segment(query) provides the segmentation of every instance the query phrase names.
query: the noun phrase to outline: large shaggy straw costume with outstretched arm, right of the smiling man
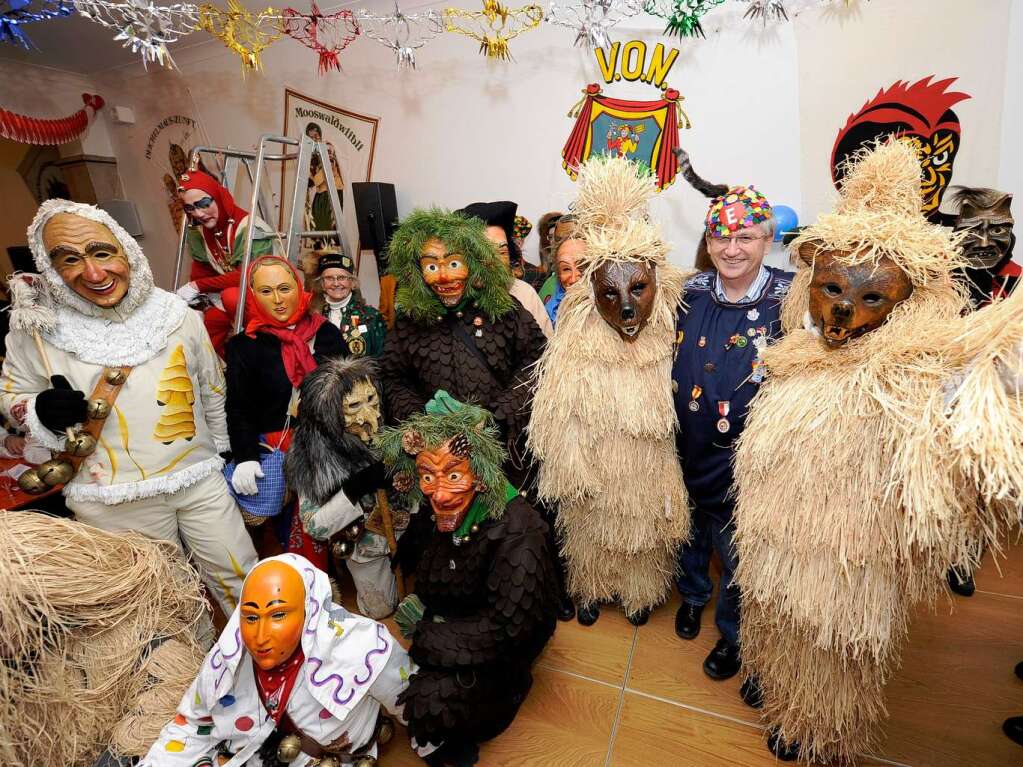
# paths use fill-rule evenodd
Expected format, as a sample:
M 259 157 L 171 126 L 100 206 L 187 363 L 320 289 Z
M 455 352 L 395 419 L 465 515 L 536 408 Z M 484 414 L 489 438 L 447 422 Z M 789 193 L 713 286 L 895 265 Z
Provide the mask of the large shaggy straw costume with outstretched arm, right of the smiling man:
M 963 317 L 963 260 L 921 213 L 915 152 L 857 160 L 835 212 L 793 244 L 787 334 L 765 351 L 735 472 L 743 667 L 769 746 L 841 763 L 876 745 L 915 605 L 949 566 L 976 565 L 1023 491 L 1020 300 Z M 818 275 L 857 270 L 908 298 L 880 325 L 839 327 L 852 310 L 814 310 L 841 287 Z

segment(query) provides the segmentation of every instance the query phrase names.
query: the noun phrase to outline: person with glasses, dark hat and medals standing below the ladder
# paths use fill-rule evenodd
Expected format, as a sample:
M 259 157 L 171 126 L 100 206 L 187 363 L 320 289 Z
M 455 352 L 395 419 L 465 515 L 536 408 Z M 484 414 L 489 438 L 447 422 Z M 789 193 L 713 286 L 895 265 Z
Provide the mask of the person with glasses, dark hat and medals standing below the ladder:
M 316 262 L 312 310 L 321 312 L 345 339 L 352 357 L 380 357 L 387 324 L 373 307 L 355 292 L 355 262 L 337 251 L 323 253 Z

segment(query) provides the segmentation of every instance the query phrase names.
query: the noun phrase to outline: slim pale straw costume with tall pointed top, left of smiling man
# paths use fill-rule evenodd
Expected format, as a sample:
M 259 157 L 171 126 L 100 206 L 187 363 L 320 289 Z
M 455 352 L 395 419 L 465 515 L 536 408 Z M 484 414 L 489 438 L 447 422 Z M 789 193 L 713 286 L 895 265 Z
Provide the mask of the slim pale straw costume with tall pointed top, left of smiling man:
M 540 496 L 559 504 L 569 592 L 584 606 L 620 600 L 638 622 L 667 595 L 688 535 L 671 392 L 682 274 L 647 216 L 654 191 L 625 160 L 580 172 L 583 277 L 566 291 L 536 369 L 529 426 Z M 606 288 L 594 283 L 613 272 L 632 280 L 641 272 L 653 285 L 646 324 L 619 329 L 605 316 Z

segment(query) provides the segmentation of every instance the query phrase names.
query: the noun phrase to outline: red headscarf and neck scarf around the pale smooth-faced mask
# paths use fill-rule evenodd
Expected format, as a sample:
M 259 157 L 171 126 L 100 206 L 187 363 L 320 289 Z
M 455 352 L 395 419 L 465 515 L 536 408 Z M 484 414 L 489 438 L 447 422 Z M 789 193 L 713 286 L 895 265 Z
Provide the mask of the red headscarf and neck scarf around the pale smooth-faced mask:
M 252 278 L 256 269 L 265 264 L 281 264 L 291 270 L 295 283 L 299 286 L 301 298 L 299 308 L 286 320 L 270 316 L 260 305 L 256 291 L 252 288 Z M 309 351 L 309 342 L 326 322 L 322 314 L 310 314 L 309 302 L 312 294 L 303 289 L 302 278 L 298 270 L 285 259 L 279 256 L 262 256 L 249 267 L 249 278 L 246 280 L 246 307 L 251 310 L 250 319 L 246 323 L 246 335 L 256 337 L 257 332 L 276 336 L 280 341 L 280 356 L 284 361 L 284 372 L 292 386 L 298 389 L 306 375 L 316 369 L 316 360 Z

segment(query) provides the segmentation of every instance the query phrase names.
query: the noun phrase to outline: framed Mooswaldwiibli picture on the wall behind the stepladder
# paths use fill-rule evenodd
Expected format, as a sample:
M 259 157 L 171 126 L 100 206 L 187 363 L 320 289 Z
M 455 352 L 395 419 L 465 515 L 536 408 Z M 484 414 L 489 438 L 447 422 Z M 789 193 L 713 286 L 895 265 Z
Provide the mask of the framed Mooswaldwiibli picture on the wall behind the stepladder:
M 304 198 L 300 197 L 305 206 L 305 227 L 320 231 L 335 228 L 333 211 L 326 185 L 326 174 L 330 173 L 341 194 L 344 241 L 355 245 L 351 255 L 357 267 L 361 245 L 352 198 L 352 182 L 369 181 L 372 175 L 379 125 L 379 118 L 328 104 L 290 88 L 284 90 L 284 135 L 295 138 L 307 135 L 321 140 L 326 143 L 330 155 L 329 169 L 322 167 L 318 156 L 313 157 L 309 169 L 309 178 L 305 182 L 306 193 Z M 287 164 L 281 170 L 280 178 L 281 229 L 284 227 L 285 209 L 293 195 L 294 176 L 295 168 Z

